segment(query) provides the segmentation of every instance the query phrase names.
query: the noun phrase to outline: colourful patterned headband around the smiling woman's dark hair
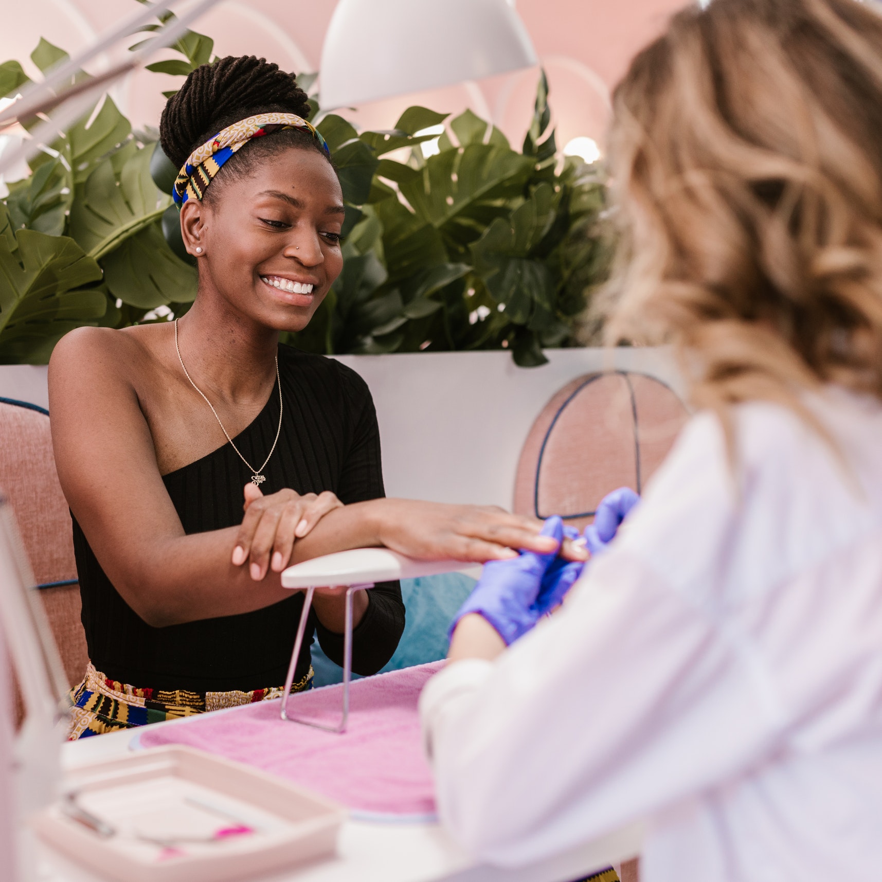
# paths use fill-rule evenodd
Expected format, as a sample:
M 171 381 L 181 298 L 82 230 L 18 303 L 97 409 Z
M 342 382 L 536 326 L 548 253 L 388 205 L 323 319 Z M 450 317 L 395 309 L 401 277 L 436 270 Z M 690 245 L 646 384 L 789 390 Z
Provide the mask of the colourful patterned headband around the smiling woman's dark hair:
M 261 113 L 257 116 L 249 116 L 238 123 L 228 125 L 226 129 L 219 131 L 210 141 L 206 141 L 190 154 L 190 159 L 183 163 L 183 168 L 178 172 L 172 189 L 171 195 L 175 205 L 180 208 L 190 198 L 201 201 L 208 184 L 212 183 L 214 176 L 236 151 L 246 145 L 251 138 L 271 135 L 273 131 L 283 129 L 309 131 L 318 141 L 318 146 L 328 156 L 331 155 L 325 144 L 325 138 L 316 131 L 315 126 L 310 125 L 300 116 L 293 113 Z

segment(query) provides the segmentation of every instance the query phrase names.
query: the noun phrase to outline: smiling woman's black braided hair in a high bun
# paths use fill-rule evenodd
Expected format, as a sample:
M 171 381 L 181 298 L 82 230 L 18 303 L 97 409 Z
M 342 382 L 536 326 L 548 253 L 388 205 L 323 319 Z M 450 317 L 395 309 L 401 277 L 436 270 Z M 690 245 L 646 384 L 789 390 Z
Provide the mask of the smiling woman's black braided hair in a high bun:
M 227 56 L 202 64 L 187 77 L 162 111 L 162 150 L 181 168 L 190 154 L 208 138 L 232 123 L 258 113 L 293 113 L 307 119 L 310 102 L 295 74 L 256 56 Z M 213 195 L 217 181 L 248 173 L 254 163 L 288 147 L 315 149 L 324 155 L 308 131 L 286 130 L 254 138 L 230 159 L 206 189 Z

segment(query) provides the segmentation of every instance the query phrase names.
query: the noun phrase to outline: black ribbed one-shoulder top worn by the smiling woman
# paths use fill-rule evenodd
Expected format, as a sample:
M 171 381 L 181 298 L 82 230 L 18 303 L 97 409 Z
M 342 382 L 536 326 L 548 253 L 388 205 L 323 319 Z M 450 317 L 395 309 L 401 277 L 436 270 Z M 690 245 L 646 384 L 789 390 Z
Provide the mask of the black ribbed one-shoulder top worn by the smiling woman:
M 384 495 L 377 415 L 370 392 L 353 370 L 321 355 L 279 347 L 284 415 L 279 444 L 265 469 L 265 494 L 333 490 L 344 503 Z M 273 389 L 257 419 L 235 437 L 245 459 L 262 463 L 279 425 L 279 392 Z M 188 534 L 242 523 L 243 486 L 250 472 L 225 444 L 163 477 Z M 76 519 L 83 625 L 96 669 L 121 683 L 154 689 L 228 691 L 264 689 L 285 681 L 303 594 L 240 616 L 153 628 L 123 601 L 101 569 Z M 230 549 L 232 552 L 232 549 Z M 398 582 L 377 585 L 355 629 L 353 669 L 372 674 L 383 667 L 404 630 Z M 303 641 L 296 679 L 309 669 L 310 642 L 342 664 L 343 639 L 313 613 Z

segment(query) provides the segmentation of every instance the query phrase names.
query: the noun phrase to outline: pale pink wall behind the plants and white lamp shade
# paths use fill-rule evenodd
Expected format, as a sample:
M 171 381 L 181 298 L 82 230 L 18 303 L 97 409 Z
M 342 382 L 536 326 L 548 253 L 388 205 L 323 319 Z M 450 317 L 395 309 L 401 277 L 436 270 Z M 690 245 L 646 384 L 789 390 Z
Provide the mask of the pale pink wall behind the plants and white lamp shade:
M 518 0 L 537 54 L 549 74 L 558 144 L 587 135 L 601 141 L 608 118 L 609 89 L 629 59 L 663 26 L 684 0 Z M 255 54 L 283 68 L 318 68 L 321 46 L 335 0 L 226 0 L 208 12 L 197 29 L 210 34 L 221 55 Z M 76 50 L 96 33 L 131 14 L 131 0 L 26 0 L 7 4 L 0 32 L 0 61 L 22 62 L 39 37 Z M 366 47 L 365 51 L 370 51 Z M 490 117 L 518 143 L 532 110 L 535 69 L 480 83 L 411 94 L 357 108 L 351 116 L 364 127 L 389 128 L 409 104 L 460 112 L 472 108 Z M 157 124 L 163 89 L 179 78 L 139 72 L 117 86 L 114 97 L 136 125 Z

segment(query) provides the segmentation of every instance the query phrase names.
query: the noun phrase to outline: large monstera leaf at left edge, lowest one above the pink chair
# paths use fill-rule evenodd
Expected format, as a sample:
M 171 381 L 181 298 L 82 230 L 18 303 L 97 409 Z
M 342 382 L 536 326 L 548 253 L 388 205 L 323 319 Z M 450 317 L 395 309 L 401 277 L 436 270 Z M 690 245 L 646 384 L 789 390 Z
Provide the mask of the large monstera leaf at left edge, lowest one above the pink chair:
M 0 221 L 0 363 L 45 363 L 65 333 L 107 310 L 104 291 L 85 288 L 101 267 L 67 236 L 19 229 L 13 239 L 5 212 Z

